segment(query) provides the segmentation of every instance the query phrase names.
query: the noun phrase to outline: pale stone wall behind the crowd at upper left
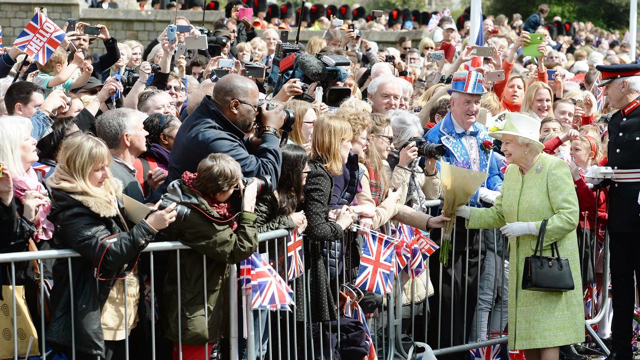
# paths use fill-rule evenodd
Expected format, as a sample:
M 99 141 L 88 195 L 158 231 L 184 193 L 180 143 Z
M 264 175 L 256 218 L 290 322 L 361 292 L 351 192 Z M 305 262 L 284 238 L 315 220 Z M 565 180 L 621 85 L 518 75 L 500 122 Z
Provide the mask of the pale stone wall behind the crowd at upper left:
M 159 35 L 167 24 L 173 22 L 175 12 L 169 10 L 104 10 L 87 8 L 83 0 L 0 0 L 0 26 L 3 26 L 3 44 L 10 46 L 15 37 L 24 29 L 28 20 L 33 16 L 35 6 L 46 6 L 49 18 L 62 26 L 68 18 L 75 18 L 89 24 L 104 24 L 112 37 L 118 40 L 135 39 L 143 45 Z M 179 11 L 178 15 L 187 17 L 193 24 L 202 24 L 202 13 L 188 10 Z M 211 27 L 213 22 L 224 16 L 224 12 L 206 12 L 205 25 Z M 295 38 L 296 29 L 292 29 L 289 39 Z M 323 31 L 301 31 L 300 41 L 306 43 L 314 36 L 322 36 Z M 378 42 L 381 47 L 393 46 L 401 36 L 413 39 L 414 46 L 426 31 L 362 31 L 362 37 Z M 94 53 L 104 53 L 104 46 L 94 42 L 90 47 Z

